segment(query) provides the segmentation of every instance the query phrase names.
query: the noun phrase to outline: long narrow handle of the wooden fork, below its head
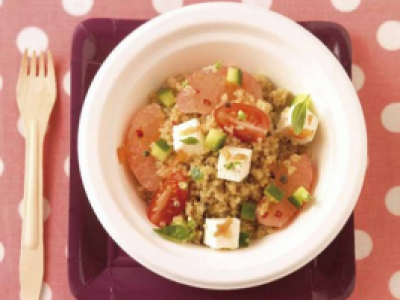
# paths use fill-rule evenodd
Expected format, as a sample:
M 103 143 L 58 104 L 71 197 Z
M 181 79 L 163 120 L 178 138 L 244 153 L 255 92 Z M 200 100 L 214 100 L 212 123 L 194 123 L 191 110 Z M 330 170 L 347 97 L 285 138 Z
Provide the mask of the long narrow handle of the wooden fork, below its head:
M 25 185 L 20 255 L 21 300 L 38 300 L 43 280 L 43 139 L 37 120 L 25 126 Z

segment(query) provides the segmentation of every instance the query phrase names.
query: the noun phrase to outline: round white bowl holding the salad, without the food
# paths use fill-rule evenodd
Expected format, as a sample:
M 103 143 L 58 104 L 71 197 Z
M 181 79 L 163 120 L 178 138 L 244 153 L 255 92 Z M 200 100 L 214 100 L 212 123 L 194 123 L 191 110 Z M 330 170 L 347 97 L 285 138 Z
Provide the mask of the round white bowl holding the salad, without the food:
M 130 119 L 171 74 L 216 61 L 310 93 L 321 120 L 314 146 L 316 202 L 287 229 L 249 248 L 178 245 L 152 231 L 132 177 L 118 163 Z M 87 94 L 78 137 L 83 183 L 99 220 L 132 258 L 171 280 L 238 289 L 283 277 L 318 255 L 350 216 L 364 179 L 366 129 L 357 94 L 329 50 L 295 22 L 243 4 L 185 7 L 132 32 L 104 62 Z

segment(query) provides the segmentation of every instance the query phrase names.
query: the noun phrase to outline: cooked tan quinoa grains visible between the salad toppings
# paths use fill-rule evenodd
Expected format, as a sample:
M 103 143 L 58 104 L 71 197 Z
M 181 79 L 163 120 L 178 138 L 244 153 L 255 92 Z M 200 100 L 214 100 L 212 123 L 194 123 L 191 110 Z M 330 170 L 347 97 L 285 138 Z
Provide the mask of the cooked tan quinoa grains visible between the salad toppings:
M 255 106 L 269 114 L 272 125 L 275 128 L 282 110 L 290 105 L 293 94 L 283 88 L 277 87 L 268 77 L 257 74 L 254 76 L 262 86 L 263 98 L 255 99 L 254 96 L 238 89 L 235 99 L 231 103 L 243 103 Z M 172 89 L 177 95 L 183 89 L 184 75 L 168 77 L 162 87 Z M 227 102 L 227 95 L 221 97 L 222 103 Z M 158 102 L 156 91 L 150 93 L 149 102 Z M 212 114 L 200 115 L 196 113 L 182 113 L 176 106 L 172 108 L 163 107 L 166 115 L 165 122 L 160 128 L 160 138 L 172 145 L 172 127 L 176 124 L 197 119 L 200 129 L 204 134 L 218 125 Z M 157 174 L 166 178 L 174 171 L 181 170 L 189 176 L 192 168 L 197 167 L 203 174 L 200 182 L 191 182 L 190 198 L 186 203 L 183 217 L 193 219 L 196 223 L 195 234 L 192 242 L 203 243 L 205 218 L 240 217 L 241 204 L 245 202 L 258 203 L 263 198 L 264 188 L 271 181 L 270 166 L 276 162 L 282 162 L 287 168 L 289 176 L 295 171 L 291 165 L 291 159 L 296 155 L 310 155 L 309 144 L 296 145 L 291 139 L 279 135 L 269 135 L 265 139 L 259 139 L 254 143 L 242 142 L 233 135 L 228 135 L 225 146 L 238 146 L 252 149 L 251 170 L 242 182 L 233 182 L 217 178 L 218 152 L 207 151 L 203 155 L 187 156 L 180 161 L 179 154 L 173 152 L 165 161 L 157 161 Z M 171 167 L 173 166 L 173 167 Z M 273 179 L 273 178 L 272 178 Z M 247 232 L 250 239 L 259 239 L 276 231 L 275 228 L 267 227 L 255 221 L 241 219 L 241 231 Z

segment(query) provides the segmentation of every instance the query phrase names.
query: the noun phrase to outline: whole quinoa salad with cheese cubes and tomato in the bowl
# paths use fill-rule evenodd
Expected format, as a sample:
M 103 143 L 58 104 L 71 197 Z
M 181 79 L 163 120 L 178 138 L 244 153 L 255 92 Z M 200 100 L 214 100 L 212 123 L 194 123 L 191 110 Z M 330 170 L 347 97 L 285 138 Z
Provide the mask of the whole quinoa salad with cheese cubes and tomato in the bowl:
M 154 234 L 218 250 L 248 247 L 290 226 L 312 199 L 319 121 L 310 95 L 215 63 L 168 77 L 148 98 L 117 152 Z

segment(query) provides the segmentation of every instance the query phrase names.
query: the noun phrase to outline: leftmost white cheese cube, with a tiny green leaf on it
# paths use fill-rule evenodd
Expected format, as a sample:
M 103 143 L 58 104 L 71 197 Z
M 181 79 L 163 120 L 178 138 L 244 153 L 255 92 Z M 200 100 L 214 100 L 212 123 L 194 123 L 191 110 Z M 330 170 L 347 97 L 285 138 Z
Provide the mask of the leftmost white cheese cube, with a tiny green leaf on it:
M 198 142 L 194 144 L 185 144 L 182 140 L 194 138 Z M 202 154 L 204 152 L 204 135 L 200 129 L 200 123 L 197 119 L 191 119 L 187 122 L 172 127 L 172 139 L 175 151 L 182 150 L 188 154 Z

